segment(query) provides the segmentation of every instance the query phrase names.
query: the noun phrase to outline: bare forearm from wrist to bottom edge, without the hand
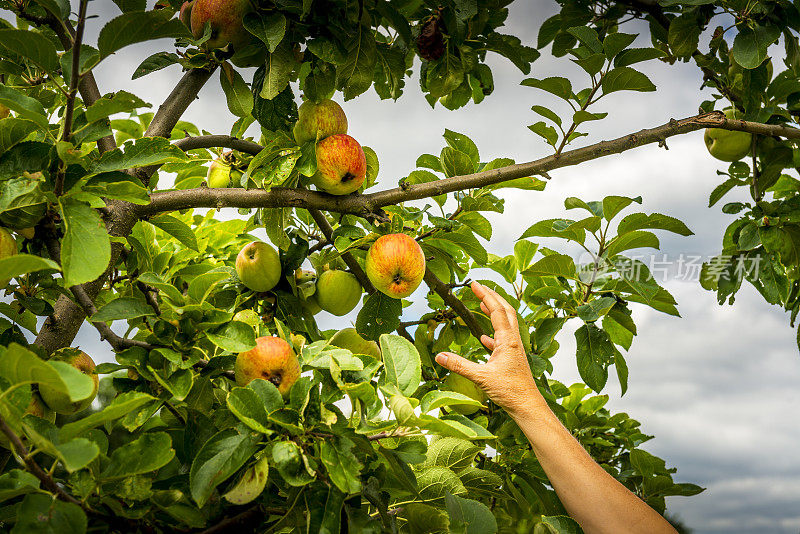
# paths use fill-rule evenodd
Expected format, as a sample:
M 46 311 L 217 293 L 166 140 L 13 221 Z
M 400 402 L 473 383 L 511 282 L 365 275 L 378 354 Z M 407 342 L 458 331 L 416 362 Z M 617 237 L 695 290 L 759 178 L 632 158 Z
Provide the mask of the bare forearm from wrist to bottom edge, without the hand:
M 544 399 L 512 413 L 569 515 L 586 534 L 675 534 L 660 514 L 600 467 Z

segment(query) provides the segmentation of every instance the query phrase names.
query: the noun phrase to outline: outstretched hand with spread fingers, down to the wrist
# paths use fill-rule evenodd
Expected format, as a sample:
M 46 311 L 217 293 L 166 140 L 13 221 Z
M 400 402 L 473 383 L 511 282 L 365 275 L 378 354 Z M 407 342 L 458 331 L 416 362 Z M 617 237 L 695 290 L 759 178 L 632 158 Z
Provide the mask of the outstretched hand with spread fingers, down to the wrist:
M 518 412 L 541 399 L 525 356 L 519 335 L 517 311 L 506 300 L 478 282 L 472 292 L 481 299 L 481 310 L 492 321 L 494 338 L 481 336 L 481 343 L 492 351 L 489 360 L 476 363 L 452 352 L 440 352 L 436 361 L 442 367 L 475 382 L 489 398 L 510 413 Z

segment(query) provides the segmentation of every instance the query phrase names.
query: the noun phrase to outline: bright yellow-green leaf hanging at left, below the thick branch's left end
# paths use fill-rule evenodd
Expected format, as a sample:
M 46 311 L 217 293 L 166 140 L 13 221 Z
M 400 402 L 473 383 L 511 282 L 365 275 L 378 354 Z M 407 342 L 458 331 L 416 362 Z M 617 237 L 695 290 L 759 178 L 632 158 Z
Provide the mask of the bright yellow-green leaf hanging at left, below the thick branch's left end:
M 66 232 L 61 243 L 64 285 L 91 282 L 103 274 L 111 261 L 111 241 L 100 214 L 88 204 L 61 203 Z

